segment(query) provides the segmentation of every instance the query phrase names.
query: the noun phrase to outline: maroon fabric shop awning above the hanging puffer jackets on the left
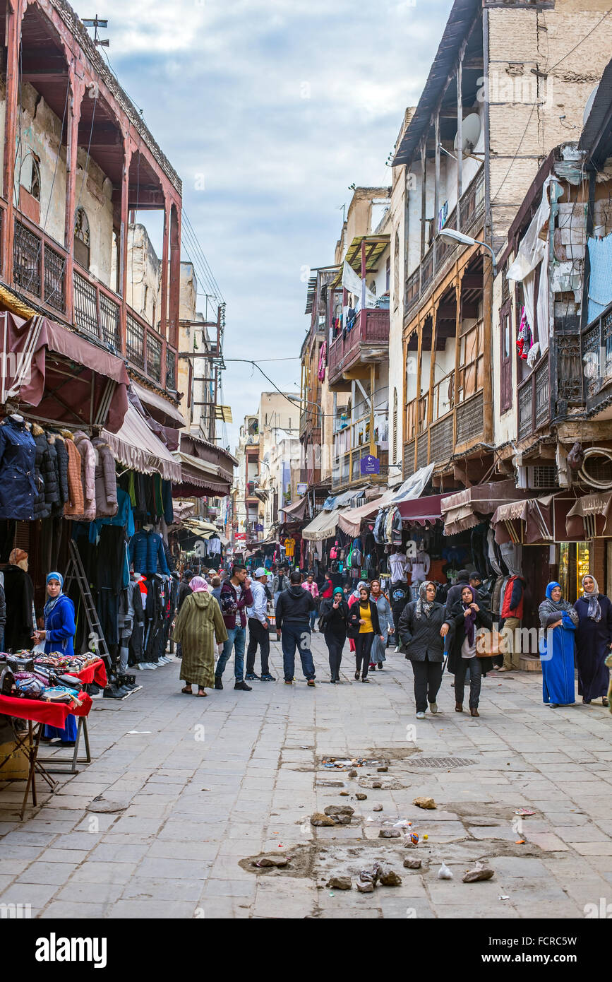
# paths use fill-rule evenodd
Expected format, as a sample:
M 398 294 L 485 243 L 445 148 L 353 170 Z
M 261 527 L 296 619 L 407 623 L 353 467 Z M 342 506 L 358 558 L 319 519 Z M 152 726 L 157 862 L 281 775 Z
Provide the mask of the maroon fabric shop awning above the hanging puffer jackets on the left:
M 23 320 L 8 310 L 0 313 L 0 351 L 2 404 L 18 403 L 43 422 L 120 429 L 129 383 L 122 358 L 47 317 Z

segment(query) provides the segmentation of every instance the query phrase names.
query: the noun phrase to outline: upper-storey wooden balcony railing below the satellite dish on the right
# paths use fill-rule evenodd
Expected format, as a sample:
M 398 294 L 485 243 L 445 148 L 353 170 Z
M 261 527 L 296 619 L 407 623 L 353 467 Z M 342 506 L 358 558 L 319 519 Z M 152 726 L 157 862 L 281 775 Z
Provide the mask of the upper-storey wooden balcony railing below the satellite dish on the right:
M 460 229 L 466 235 L 478 233 L 485 215 L 485 169 L 481 168 L 467 191 L 459 201 L 459 217 L 457 208 L 449 214 L 445 226 L 449 229 Z M 404 314 L 409 314 L 417 302 L 434 286 L 439 277 L 446 273 L 451 262 L 456 257 L 458 243 L 445 242 L 436 236 L 434 242 L 425 253 L 421 263 L 406 280 L 404 293 Z

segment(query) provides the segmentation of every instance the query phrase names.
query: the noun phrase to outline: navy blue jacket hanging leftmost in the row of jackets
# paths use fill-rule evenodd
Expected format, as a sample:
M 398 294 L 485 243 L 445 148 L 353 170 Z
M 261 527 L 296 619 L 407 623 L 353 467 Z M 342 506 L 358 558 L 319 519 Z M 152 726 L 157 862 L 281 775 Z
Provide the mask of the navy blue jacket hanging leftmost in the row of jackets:
M 26 423 L 7 416 L 0 423 L 0 518 L 34 517 L 35 458 L 36 445 Z

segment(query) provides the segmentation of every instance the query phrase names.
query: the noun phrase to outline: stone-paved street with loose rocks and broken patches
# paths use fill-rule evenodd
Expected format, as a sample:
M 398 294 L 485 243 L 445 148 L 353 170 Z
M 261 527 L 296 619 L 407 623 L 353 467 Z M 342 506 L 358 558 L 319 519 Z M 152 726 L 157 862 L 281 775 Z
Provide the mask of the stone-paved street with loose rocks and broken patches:
M 315 689 L 282 684 L 274 643 L 280 681 L 253 682 L 251 693 L 234 692 L 226 672 L 223 692 L 187 698 L 175 663 L 142 673 L 143 689 L 124 703 L 96 700 L 91 765 L 61 779 L 23 823 L 15 812 L 23 783 L 0 791 L 0 903 L 29 903 L 42 918 L 572 918 L 612 899 L 607 710 L 581 702 L 551 710 L 538 674 L 493 674 L 473 720 L 454 712 L 445 675 L 441 712 L 417 723 L 402 656 L 391 654 L 364 686 L 345 654 L 333 686 L 318 634 L 313 648 Z M 330 755 L 370 755 L 388 770 L 363 767 L 349 778 L 323 766 Z M 467 763 L 433 766 L 431 758 L 449 755 Z M 420 758 L 431 766 L 418 766 Z M 434 796 L 436 810 L 412 804 L 422 794 Z M 124 810 L 87 811 L 98 795 Z M 346 803 L 355 809 L 350 825 L 311 826 L 315 811 Z M 521 807 L 535 811 L 522 828 Z M 380 839 L 388 819 L 414 822 L 419 845 Z M 249 860 L 268 852 L 291 858 L 255 872 Z M 406 857 L 422 869 L 404 869 Z M 483 858 L 493 879 L 462 883 Z M 326 889 L 331 874 L 354 884 L 376 859 L 401 886 Z M 452 881 L 437 879 L 442 860 Z

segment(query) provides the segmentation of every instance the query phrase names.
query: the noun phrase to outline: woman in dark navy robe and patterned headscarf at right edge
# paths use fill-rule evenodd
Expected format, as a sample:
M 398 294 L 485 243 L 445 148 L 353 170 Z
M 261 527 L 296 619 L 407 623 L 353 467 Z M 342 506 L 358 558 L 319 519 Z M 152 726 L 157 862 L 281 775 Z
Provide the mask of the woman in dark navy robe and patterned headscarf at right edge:
M 602 704 L 607 706 L 610 670 L 605 661 L 612 648 L 612 603 L 604 593 L 599 593 L 594 576 L 584 576 L 583 595 L 574 604 L 574 610 L 578 614 L 578 694 L 587 705 L 601 696 Z

